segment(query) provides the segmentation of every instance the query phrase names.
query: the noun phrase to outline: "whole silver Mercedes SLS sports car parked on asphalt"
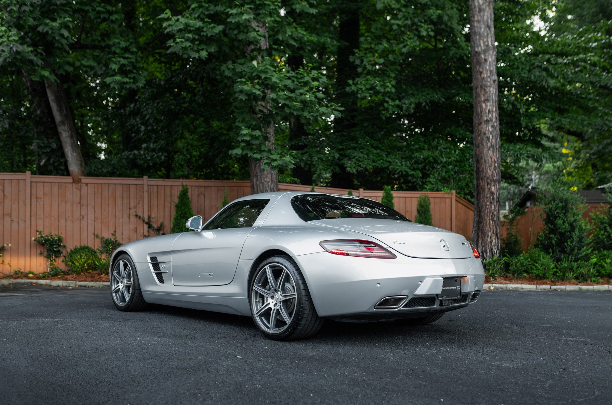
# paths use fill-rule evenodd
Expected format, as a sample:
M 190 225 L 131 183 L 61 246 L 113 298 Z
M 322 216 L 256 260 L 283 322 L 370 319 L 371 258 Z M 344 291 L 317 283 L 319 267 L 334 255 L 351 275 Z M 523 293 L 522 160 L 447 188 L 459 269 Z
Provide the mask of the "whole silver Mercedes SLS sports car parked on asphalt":
M 185 226 L 115 251 L 119 310 L 159 303 L 252 316 L 267 338 L 294 340 L 325 318 L 428 324 L 476 302 L 485 280 L 465 237 L 367 198 L 250 195 Z

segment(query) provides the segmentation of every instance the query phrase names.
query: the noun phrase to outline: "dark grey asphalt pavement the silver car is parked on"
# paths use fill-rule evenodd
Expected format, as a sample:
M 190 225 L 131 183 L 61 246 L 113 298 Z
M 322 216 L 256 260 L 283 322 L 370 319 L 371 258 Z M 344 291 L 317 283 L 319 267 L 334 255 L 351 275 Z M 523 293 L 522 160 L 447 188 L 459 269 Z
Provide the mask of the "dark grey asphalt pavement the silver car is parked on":
M 485 291 L 430 325 L 275 342 L 244 316 L 2 287 L 0 355 L 2 404 L 610 404 L 612 292 Z

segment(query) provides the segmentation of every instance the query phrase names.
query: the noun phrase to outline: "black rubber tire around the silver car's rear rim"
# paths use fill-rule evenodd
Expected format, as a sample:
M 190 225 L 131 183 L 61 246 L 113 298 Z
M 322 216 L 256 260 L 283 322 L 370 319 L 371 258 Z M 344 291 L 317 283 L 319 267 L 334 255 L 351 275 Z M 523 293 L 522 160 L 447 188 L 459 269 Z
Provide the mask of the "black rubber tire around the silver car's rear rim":
M 283 301 L 285 300 L 284 298 L 281 298 L 280 303 L 277 303 L 277 305 L 280 305 L 280 307 L 282 307 L 283 304 L 285 305 L 285 313 L 288 313 L 287 305 L 291 305 L 291 321 L 285 322 L 283 321 L 282 316 L 277 315 L 278 318 L 275 318 L 277 319 L 277 321 L 269 322 L 269 330 L 266 330 L 264 328 L 265 319 L 263 318 L 266 315 L 260 315 L 259 317 L 256 316 L 256 308 L 254 307 L 260 306 L 259 310 L 262 310 L 262 307 L 265 307 L 270 303 L 274 303 L 274 298 L 272 297 L 272 294 L 269 294 L 270 296 L 267 296 L 261 294 L 261 292 L 253 291 L 255 281 L 260 280 L 260 275 L 263 275 L 262 272 L 266 270 L 267 267 L 269 269 L 273 269 L 275 272 L 272 277 L 275 278 L 274 284 L 282 283 L 284 272 L 282 268 L 288 270 L 289 274 L 291 275 L 291 281 L 293 281 L 293 284 L 289 284 L 289 286 L 286 286 L 285 283 L 284 291 L 288 291 L 285 295 L 291 295 L 293 294 L 293 292 L 295 293 L 295 298 L 287 299 L 288 303 L 285 303 L 285 301 Z M 261 283 L 258 284 L 258 286 L 260 285 Z M 267 287 L 270 291 L 273 290 L 272 286 L 268 285 Z M 281 296 L 283 295 L 283 291 L 279 290 L 277 292 L 277 295 L 278 293 L 280 293 Z M 266 303 L 263 302 L 264 299 L 267 300 Z M 324 319 L 319 318 L 318 314 L 316 313 L 315 305 L 313 305 L 312 299 L 310 297 L 310 292 L 308 292 L 308 286 L 306 285 L 304 276 L 302 275 L 302 272 L 300 272 L 299 267 L 297 267 L 296 262 L 294 262 L 293 259 L 291 259 L 289 256 L 272 256 L 271 258 L 268 258 L 261 262 L 261 264 L 259 264 L 255 272 L 252 273 L 250 279 L 248 280 L 248 302 L 251 308 L 251 316 L 253 318 L 253 322 L 255 322 L 257 329 L 259 329 L 259 332 L 266 336 L 266 338 L 272 340 L 287 341 L 307 339 L 315 335 L 315 333 L 318 332 L 319 329 L 321 329 L 321 326 L 323 326 Z M 272 307 L 269 307 L 269 310 L 269 318 L 272 319 L 272 314 L 274 313 L 272 312 Z M 267 313 L 267 309 L 264 310 L 264 314 L 265 313 Z M 280 321 L 281 323 L 284 322 L 285 325 L 283 325 L 283 330 L 272 333 L 271 330 L 274 329 L 274 324 L 278 321 Z

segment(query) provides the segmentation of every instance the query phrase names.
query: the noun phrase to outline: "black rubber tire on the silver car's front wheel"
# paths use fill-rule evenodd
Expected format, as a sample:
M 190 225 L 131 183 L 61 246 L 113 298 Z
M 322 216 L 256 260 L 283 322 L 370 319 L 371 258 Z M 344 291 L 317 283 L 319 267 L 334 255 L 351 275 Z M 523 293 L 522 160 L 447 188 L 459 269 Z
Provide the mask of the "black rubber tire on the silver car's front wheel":
M 125 266 L 127 264 L 129 267 Z M 125 272 L 122 272 L 125 270 Z M 127 300 L 125 299 L 125 295 L 122 293 L 123 289 L 120 289 L 121 292 L 117 292 L 116 288 L 118 284 L 123 285 L 122 283 L 117 283 L 119 280 L 127 280 L 127 277 L 124 276 L 129 274 L 129 279 L 131 280 L 131 286 L 127 288 L 126 292 Z M 133 312 L 133 311 L 141 311 L 147 307 L 147 302 L 144 300 L 143 292 L 140 290 L 140 280 L 138 280 L 138 272 L 136 271 L 136 266 L 130 255 L 124 253 L 115 259 L 113 269 L 109 275 L 111 281 L 111 300 L 113 300 L 114 306 L 119 311 Z M 119 296 L 119 302 L 118 302 Z

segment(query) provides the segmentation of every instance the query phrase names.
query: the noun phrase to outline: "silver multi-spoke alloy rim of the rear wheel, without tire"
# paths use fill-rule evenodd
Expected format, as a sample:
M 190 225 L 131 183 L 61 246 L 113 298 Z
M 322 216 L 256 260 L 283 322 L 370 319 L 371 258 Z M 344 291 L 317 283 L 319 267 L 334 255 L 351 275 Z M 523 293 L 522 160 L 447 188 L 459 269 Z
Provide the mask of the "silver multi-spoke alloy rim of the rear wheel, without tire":
M 259 326 L 268 333 L 281 333 L 296 313 L 296 285 L 289 270 L 270 263 L 259 270 L 253 283 L 251 304 Z

